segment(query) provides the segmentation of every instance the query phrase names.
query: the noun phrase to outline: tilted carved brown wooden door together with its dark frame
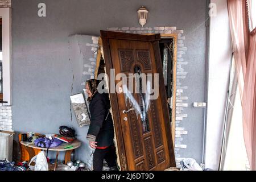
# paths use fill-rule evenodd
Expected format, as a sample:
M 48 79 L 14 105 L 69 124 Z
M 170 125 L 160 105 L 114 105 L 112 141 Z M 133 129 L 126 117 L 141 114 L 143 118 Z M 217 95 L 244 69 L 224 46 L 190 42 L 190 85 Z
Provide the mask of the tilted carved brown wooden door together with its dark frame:
M 123 73 L 127 76 L 126 84 L 123 82 L 118 89 L 120 93 L 110 93 L 121 169 L 141 171 L 174 167 L 174 150 L 158 43 L 160 34 L 137 35 L 101 31 L 101 38 L 109 78 L 110 69 L 114 69 L 115 75 Z M 147 86 L 142 87 L 142 77 L 138 77 L 140 86 L 137 92 L 135 83 L 130 88 L 127 83 L 135 81 L 131 73 L 137 73 L 138 76 L 151 73 L 152 80 L 146 80 L 146 85 L 158 82 L 154 73 L 161 73 L 157 85 L 159 96 L 155 100 L 148 99 L 150 92 Z M 109 79 L 109 88 L 113 81 L 113 77 Z M 117 85 L 118 82 L 119 80 L 115 80 L 114 84 Z

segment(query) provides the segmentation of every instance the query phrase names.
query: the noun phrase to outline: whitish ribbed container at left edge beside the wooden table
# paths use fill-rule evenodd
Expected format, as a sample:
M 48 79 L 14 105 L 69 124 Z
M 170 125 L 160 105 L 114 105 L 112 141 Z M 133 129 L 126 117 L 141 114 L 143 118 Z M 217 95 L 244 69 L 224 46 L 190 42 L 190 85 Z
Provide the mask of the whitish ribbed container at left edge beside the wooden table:
M 0 160 L 13 160 L 13 134 L 0 132 Z

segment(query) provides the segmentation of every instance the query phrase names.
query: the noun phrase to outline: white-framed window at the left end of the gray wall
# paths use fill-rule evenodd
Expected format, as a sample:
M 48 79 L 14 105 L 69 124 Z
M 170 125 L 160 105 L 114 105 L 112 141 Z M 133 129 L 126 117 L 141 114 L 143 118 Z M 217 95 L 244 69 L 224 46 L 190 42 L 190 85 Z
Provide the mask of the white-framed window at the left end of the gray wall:
M 0 50 L 0 102 L 11 105 L 11 9 L 0 8 L 1 50 Z M 2 57 L 1 57 L 2 54 Z

